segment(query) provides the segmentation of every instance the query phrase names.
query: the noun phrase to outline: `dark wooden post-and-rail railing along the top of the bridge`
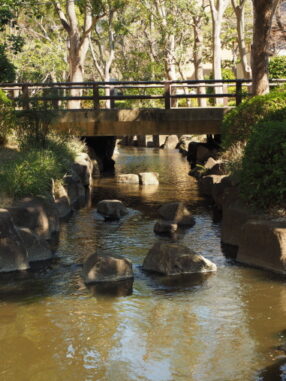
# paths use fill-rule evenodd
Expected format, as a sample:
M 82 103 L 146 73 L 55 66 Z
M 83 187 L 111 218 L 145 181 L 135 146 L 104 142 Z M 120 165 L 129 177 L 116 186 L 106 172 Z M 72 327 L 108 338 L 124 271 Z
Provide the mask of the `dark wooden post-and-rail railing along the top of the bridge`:
M 286 79 L 272 80 L 271 86 L 286 83 Z M 200 98 L 210 100 L 222 98 L 227 106 L 229 100 L 240 104 L 251 95 L 251 80 L 203 80 L 203 81 L 116 81 L 116 82 L 58 82 L 58 83 L 2 83 L 19 108 L 30 109 L 41 104 L 45 109 L 65 109 L 70 102 L 77 101 L 81 109 L 99 109 L 101 101 L 115 107 L 115 101 L 161 100 L 165 109 L 174 107 L 180 99 Z M 220 93 L 215 94 L 215 87 Z M 132 90 L 143 90 L 143 94 L 128 94 Z M 159 92 L 160 90 L 160 92 Z M 159 92 L 159 93 L 158 93 Z M 147 94 L 149 93 L 149 94 Z M 120 105 L 116 105 L 120 107 Z

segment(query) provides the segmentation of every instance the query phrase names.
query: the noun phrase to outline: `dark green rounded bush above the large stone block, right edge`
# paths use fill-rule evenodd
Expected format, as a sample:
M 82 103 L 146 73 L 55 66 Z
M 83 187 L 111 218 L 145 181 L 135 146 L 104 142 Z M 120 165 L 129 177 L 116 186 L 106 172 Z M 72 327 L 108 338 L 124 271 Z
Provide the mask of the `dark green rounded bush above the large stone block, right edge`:
M 241 173 L 246 201 L 263 209 L 285 207 L 286 122 L 257 125 L 246 145 Z

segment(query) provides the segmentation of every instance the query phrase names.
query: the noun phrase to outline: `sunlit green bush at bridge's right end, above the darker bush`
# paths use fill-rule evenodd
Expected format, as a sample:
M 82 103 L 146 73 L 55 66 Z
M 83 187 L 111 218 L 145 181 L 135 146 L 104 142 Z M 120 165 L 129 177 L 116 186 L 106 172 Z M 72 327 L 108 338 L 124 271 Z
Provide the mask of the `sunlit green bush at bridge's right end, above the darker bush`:
M 247 141 L 257 123 L 270 120 L 286 120 L 284 89 L 253 97 L 229 111 L 222 125 L 223 147 L 228 149 L 232 144 Z

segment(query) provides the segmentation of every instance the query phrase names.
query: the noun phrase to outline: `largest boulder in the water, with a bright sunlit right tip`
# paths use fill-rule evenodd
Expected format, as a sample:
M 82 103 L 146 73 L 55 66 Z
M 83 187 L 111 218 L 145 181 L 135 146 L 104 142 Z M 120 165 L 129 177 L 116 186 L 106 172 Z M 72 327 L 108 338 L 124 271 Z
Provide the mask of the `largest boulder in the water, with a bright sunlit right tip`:
M 149 250 L 143 269 L 165 275 L 205 273 L 216 271 L 216 265 L 186 246 L 157 242 Z

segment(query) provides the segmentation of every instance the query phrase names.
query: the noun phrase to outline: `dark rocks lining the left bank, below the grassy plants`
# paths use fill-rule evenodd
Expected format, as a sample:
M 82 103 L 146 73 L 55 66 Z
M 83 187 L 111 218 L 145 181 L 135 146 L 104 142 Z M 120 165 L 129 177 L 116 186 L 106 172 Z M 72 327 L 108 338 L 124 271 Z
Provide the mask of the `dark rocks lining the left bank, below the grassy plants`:
M 92 185 L 94 162 L 77 156 L 51 199 L 33 197 L 0 209 L 0 272 L 26 270 L 30 263 L 51 259 L 57 249 L 60 221 L 84 206 Z

